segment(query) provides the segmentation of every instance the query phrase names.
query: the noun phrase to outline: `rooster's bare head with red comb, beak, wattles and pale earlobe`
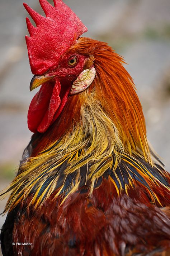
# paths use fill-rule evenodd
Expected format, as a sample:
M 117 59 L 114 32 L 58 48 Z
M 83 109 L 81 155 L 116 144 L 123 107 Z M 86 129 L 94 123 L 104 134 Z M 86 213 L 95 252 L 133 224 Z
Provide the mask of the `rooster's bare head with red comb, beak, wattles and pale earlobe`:
M 44 133 L 61 114 L 69 95 L 85 90 L 95 77 L 93 63 L 86 68 L 89 56 L 72 53 L 71 45 L 87 31 L 76 14 L 62 2 L 39 0 L 46 17 L 24 4 L 36 27 L 26 18 L 26 36 L 30 67 L 34 77 L 30 91 L 42 85 L 28 111 L 28 127 Z

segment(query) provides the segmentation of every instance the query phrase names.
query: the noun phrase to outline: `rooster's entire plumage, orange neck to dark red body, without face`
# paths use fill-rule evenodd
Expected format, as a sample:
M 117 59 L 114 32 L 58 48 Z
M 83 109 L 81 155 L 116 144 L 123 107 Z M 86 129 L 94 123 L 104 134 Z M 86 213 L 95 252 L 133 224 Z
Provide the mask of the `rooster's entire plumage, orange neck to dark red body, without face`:
M 96 78 L 69 97 L 45 134 L 33 135 L 7 189 L 5 212 L 19 208 L 13 239 L 24 233 L 32 255 L 167 250 L 170 224 L 161 207 L 170 203 L 170 178 L 152 159 L 132 78 L 105 43 L 79 38 L 69 52 L 93 56 Z

